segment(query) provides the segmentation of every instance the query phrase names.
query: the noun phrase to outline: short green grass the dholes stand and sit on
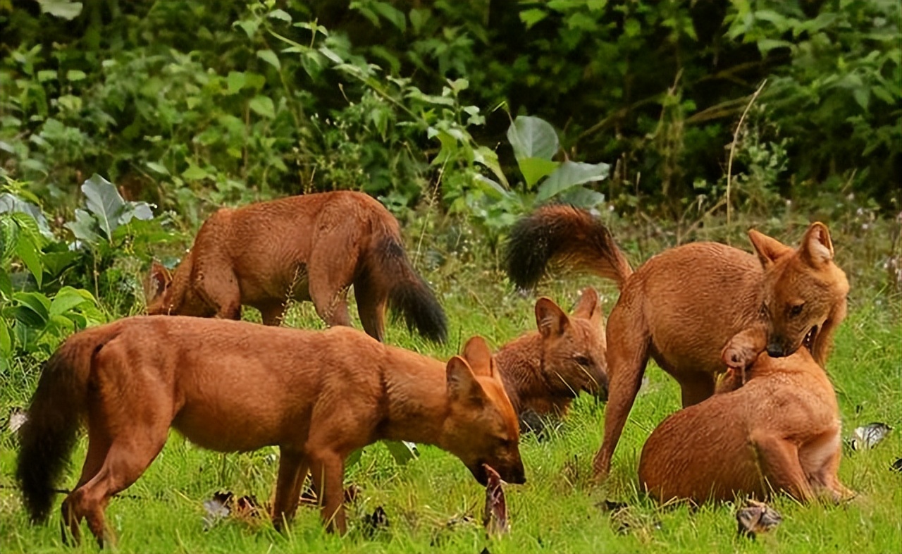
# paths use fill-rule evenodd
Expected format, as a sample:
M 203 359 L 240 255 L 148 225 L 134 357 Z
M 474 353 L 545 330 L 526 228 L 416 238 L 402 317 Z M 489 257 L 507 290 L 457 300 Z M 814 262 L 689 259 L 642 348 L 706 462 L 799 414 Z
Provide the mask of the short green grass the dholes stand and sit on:
M 834 240 L 836 240 L 834 238 Z M 736 244 L 739 244 L 737 241 Z M 855 255 L 847 252 L 846 256 Z M 453 262 L 453 260 L 452 260 Z M 842 263 L 842 260 L 841 260 Z M 399 323 L 388 341 L 446 359 L 467 337 L 481 334 L 500 346 L 534 328 L 535 296 L 511 291 L 502 273 L 479 263 L 445 263 L 428 273 L 442 295 L 451 323 L 444 346 L 425 343 Z M 847 269 L 849 272 L 849 269 Z M 850 272 L 852 273 L 852 272 Z M 539 292 L 565 309 L 578 290 L 592 284 L 603 292 L 605 313 L 616 300 L 610 282 L 593 278 L 549 279 Z M 349 505 L 350 531 L 328 535 L 318 512 L 301 508 L 290 530 L 279 534 L 265 519 L 226 518 L 205 531 L 203 502 L 216 491 L 253 494 L 268 501 L 275 482 L 276 448 L 220 455 L 192 446 L 177 433 L 141 479 L 110 503 L 107 522 L 122 552 L 900 552 L 902 551 L 902 473 L 890 470 L 902 457 L 902 324 L 898 297 L 877 285 L 852 282 L 851 311 L 840 328 L 827 370 L 842 411 L 843 436 L 872 421 L 893 430 L 876 448 L 845 449 L 840 478 L 858 496 L 841 506 L 800 505 L 779 497 L 772 505 L 783 516 L 778 528 L 757 540 L 737 536 L 732 503 L 658 507 L 637 492 L 636 468 L 651 429 L 679 407 L 676 382 L 654 365 L 640 392 L 613 460 L 611 478 L 594 485 L 591 462 L 602 436 L 603 404 L 582 396 L 559 428 L 547 438 L 521 439 L 526 485 L 505 488 L 511 532 L 489 538 L 483 530 L 484 491 L 455 457 L 420 447 L 419 458 L 399 466 L 381 444 L 364 450 L 345 485 L 361 488 Z M 140 311 L 141 307 L 134 307 Z M 352 310 L 353 311 L 353 310 Z M 253 319 L 255 314 L 245 312 Z M 322 327 L 308 304 L 290 310 L 293 327 Z M 359 327 L 359 326 L 358 326 Z M 14 365 L 3 375 L 0 413 L 26 406 L 36 383 L 34 367 Z M 253 418 L 253 413 L 247 417 Z M 81 439 L 69 473 L 60 484 L 74 485 L 87 440 Z M 46 526 L 32 526 L 14 485 L 16 439 L 0 431 L 0 550 L 3 552 L 95 551 L 60 541 L 59 511 Z M 58 503 L 62 496 L 58 497 Z M 605 500 L 628 508 L 605 512 Z M 373 533 L 364 517 L 382 506 L 390 525 Z M 465 517 L 465 516 L 468 516 Z M 87 532 L 87 526 L 84 526 Z

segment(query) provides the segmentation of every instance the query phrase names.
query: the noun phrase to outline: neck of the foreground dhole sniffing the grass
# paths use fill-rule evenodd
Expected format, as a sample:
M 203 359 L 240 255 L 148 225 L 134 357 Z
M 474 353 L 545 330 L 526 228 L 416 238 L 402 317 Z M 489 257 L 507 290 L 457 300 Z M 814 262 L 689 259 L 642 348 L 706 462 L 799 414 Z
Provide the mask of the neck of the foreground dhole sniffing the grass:
M 379 439 L 408 440 L 442 446 L 449 404 L 445 365 L 400 348 L 389 347 L 391 371 L 382 374 L 384 417 Z

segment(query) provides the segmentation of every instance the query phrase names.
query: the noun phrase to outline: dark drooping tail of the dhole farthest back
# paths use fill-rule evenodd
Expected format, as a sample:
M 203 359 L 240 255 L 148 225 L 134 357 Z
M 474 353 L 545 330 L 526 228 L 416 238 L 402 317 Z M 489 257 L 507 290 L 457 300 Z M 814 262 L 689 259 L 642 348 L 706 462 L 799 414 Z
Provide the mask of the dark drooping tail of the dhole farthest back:
M 445 310 L 428 283 L 414 271 L 400 238 L 382 236 L 370 252 L 367 271 L 376 287 L 389 293 L 389 308 L 403 315 L 408 328 L 436 342 L 447 338 Z

